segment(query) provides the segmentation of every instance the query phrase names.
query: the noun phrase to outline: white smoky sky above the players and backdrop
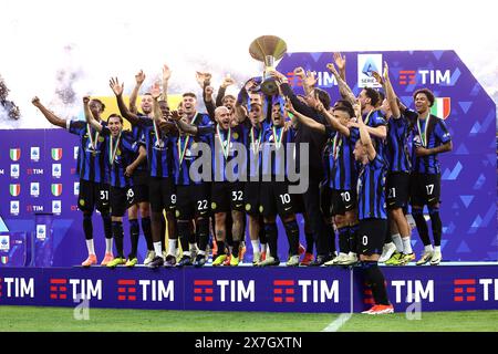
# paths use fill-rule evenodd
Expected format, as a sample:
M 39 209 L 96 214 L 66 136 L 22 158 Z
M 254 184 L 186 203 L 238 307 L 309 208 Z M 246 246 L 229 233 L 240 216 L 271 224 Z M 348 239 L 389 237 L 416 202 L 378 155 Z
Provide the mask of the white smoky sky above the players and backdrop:
M 199 95 L 196 71 L 210 71 L 215 87 L 227 73 L 242 83 L 261 69 L 248 53 L 251 41 L 276 34 L 290 52 L 454 49 L 497 101 L 498 34 L 494 12 L 480 11 L 487 6 L 478 2 L 459 8 L 421 0 L 404 9 L 394 0 L 341 7 L 313 0 L 242 6 L 228 0 L 7 0 L 0 2 L 0 74 L 20 106 L 18 127 L 49 127 L 31 105 L 34 95 L 71 117 L 81 111 L 83 95 L 112 95 L 111 76 L 124 81 L 129 93 L 134 75 L 144 70 L 143 88 L 148 90 L 164 63 L 173 71 L 170 93 Z M 418 17 L 421 9 L 430 13 Z M 396 24 L 401 15 L 413 19 L 413 25 Z M 0 117 L 0 127 L 8 124 Z

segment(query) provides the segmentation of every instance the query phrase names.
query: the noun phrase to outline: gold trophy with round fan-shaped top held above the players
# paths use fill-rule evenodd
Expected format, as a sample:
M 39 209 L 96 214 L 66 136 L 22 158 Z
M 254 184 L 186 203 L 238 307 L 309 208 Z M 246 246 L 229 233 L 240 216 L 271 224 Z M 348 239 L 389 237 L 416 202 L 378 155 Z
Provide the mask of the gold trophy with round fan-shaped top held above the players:
M 279 87 L 270 71 L 274 70 L 274 62 L 282 59 L 287 52 L 286 42 L 276 35 L 261 35 L 252 41 L 249 46 L 249 54 L 260 62 L 264 63 L 263 80 L 261 91 L 269 96 L 279 93 Z

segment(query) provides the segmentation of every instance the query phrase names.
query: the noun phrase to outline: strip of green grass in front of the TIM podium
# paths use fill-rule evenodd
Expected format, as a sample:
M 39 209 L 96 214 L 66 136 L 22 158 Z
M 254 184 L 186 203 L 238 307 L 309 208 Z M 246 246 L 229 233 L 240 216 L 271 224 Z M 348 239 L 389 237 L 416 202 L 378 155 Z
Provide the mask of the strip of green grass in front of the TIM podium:
M 90 309 L 89 317 L 74 320 L 70 308 L 0 306 L 0 332 L 320 332 L 339 314 Z M 414 321 L 353 314 L 340 331 L 498 332 L 498 310 L 425 312 Z

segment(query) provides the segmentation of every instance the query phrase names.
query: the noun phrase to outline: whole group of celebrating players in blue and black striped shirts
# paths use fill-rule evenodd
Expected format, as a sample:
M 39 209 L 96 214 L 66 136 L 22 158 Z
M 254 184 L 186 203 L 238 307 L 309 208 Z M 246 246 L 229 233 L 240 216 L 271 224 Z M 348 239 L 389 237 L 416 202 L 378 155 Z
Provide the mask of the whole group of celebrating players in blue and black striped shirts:
M 333 104 L 317 87 L 314 74 L 302 67 L 294 70 L 294 76 L 304 95 L 293 92 L 286 75 L 271 71 L 278 94 L 263 94 L 261 77 L 247 81 L 237 97 L 226 94 L 236 84 L 227 76 L 216 100 L 211 75 L 197 72 L 206 113 L 197 111 L 191 92 L 183 94 L 177 107 L 169 107 L 167 65 L 163 82 L 142 95 L 139 110 L 136 101 L 145 74 L 135 75 L 129 105 L 123 98 L 123 84 L 111 79 L 120 114 L 106 121 L 102 118 L 105 106 L 96 98 L 83 97 L 84 122 L 60 118 L 34 97 L 32 103 L 49 122 L 80 136 L 79 208 L 89 251 L 82 266 L 97 264 L 95 208 L 106 239 L 101 264 L 112 268 L 138 262 L 138 215 L 147 267 L 203 267 L 209 252 L 214 267 L 238 266 L 246 251 L 247 223 L 252 263 L 278 266 L 279 216 L 289 244 L 288 267 L 357 264 L 372 287 L 377 306 L 372 311 L 392 312 L 377 263 L 401 266 L 415 260 L 408 204 L 408 216 L 424 243 L 416 264 L 442 260 L 437 155 L 449 152 L 452 140 L 444 121 L 430 114 L 435 97 L 428 88 L 415 91 L 415 110 L 407 108 L 396 97 L 385 63 L 383 73 L 373 73 L 382 90 L 364 87 L 355 96 L 345 82 L 345 62 L 335 53 L 328 64 L 341 95 Z M 123 129 L 123 119 L 131 123 L 131 131 Z M 308 148 L 305 156 L 302 145 Z M 242 163 L 237 146 L 247 152 Z M 209 157 L 209 170 L 199 169 L 203 157 Z M 289 175 L 291 163 L 300 166 L 307 179 L 302 194 L 290 192 L 295 184 Z M 127 257 L 125 212 L 131 236 Z M 297 214 L 304 219 L 305 250 L 299 241 Z

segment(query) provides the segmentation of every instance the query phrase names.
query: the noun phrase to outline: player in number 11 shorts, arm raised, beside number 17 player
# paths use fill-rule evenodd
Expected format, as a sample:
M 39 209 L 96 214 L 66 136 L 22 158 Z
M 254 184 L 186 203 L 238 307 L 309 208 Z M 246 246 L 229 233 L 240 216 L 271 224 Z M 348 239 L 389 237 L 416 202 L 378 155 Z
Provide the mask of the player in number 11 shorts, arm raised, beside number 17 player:
M 382 111 L 387 121 L 386 158 L 388 171 L 386 178 L 387 210 L 391 223 L 392 241 L 395 252 L 390 252 L 390 246 L 384 244 L 380 262 L 387 266 L 406 264 L 415 259 L 412 250 L 412 229 L 406 220 L 404 210 L 408 207 L 409 194 L 409 171 L 412 164 L 409 160 L 408 147 L 406 144 L 408 135 L 408 118 L 400 111 L 396 94 L 391 84 L 388 65 L 384 62 L 383 79 L 378 73 L 374 73 L 376 80 L 383 85 L 386 98 L 382 103 Z M 390 253 L 392 256 L 390 257 Z

